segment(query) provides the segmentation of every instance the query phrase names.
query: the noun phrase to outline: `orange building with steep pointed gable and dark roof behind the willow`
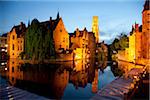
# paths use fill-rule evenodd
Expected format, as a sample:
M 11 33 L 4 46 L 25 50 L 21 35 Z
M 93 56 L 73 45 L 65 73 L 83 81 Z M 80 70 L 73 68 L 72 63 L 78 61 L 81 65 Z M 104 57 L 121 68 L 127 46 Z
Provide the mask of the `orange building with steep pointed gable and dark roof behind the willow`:
M 56 53 L 69 49 L 69 34 L 65 28 L 62 18 L 57 14 L 56 19 L 50 17 L 49 21 L 41 22 L 52 31 L 53 42 Z

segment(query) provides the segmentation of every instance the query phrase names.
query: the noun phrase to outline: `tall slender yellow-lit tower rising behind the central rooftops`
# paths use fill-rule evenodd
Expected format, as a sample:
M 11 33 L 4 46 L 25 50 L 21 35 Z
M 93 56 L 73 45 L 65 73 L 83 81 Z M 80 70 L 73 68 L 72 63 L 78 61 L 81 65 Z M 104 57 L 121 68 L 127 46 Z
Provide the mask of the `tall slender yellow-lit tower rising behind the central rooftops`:
M 92 32 L 95 34 L 96 43 L 99 42 L 98 16 L 93 16 Z

